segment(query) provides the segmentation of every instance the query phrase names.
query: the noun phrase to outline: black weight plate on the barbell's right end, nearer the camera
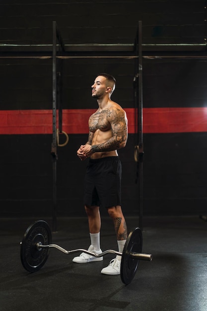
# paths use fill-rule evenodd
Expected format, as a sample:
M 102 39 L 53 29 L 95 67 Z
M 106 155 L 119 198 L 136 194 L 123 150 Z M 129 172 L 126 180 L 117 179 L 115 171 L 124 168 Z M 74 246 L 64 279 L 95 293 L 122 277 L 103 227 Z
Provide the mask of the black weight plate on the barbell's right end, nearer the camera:
M 124 284 L 130 284 L 136 274 L 139 260 L 133 258 L 131 253 L 142 252 L 142 233 L 139 228 L 135 228 L 128 235 L 121 261 L 121 279 Z

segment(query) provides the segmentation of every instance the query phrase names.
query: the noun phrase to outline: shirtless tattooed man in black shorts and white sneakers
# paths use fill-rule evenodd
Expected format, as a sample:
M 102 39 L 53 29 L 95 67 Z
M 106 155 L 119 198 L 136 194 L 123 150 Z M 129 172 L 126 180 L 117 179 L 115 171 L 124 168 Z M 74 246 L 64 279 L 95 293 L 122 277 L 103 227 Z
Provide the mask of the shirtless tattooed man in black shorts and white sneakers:
M 127 143 L 127 116 L 122 107 L 111 100 L 116 80 L 108 74 L 96 77 L 92 87 L 92 97 L 97 99 L 98 109 L 89 118 L 89 136 L 81 145 L 77 156 L 84 160 L 90 157 L 87 165 L 84 204 L 88 216 L 91 245 L 88 250 L 100 254 L 101 219 L 99 207 L 107 208 L 114 222 L 119 252 L 123 252 L 127 239 L 127 225 L 121 209 L 122 166 L 117 149 Z M 74 257 L 73 262 L 85 263 L 101 261 L 85 253 Z M 121 256 L 116 256 L 101 270 L 103 274 L 120 274 Z

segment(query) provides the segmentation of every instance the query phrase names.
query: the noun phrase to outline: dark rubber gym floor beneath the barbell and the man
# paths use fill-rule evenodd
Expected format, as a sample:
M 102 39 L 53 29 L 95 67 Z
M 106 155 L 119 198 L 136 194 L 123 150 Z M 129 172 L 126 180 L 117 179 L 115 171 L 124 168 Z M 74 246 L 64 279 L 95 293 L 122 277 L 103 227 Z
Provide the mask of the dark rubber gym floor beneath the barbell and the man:
M 50 248 L 45 265 L 27 272 L 20 260 L 20 241 L 31 223 L 39 219 L 1 219 L 0 311 L 206 311 L 207 222 L 199 216 L 146 217 L 143 249 L 153 259 L 139 261 L 129 285 L 119 275 L 100 270 L 114 258 L 77 264 L 78 254 Z M 51 226 L 51 219 L 43 219 Z M 128 231 L 138 219 L 126 218 Z M 52 242 L 67 250 L 89 246 L 85 218 L 60 218 Z M 102 219 L 101 248 L 117 250 L 109 218 Z

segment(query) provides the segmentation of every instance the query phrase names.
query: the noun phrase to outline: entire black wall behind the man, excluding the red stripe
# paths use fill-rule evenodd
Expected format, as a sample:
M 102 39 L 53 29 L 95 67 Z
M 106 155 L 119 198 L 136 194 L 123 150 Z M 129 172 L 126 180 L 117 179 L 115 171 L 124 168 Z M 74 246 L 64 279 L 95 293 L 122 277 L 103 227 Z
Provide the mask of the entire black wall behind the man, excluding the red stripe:
M 205 49 L 205 3 L 2 0 L 0 51 L 5 56 L 21 51 L 24 44 L 52 44 L 53 20 L 65 44 L 131 44 L 142 20 L 143 49 L 148 45 L 153 51 L 155 46 L 149 48 L 150 44 L 174 48 L 174 44 L 184 44 L 183 49 L 185 44 L 195 44 L 197 49 L 201 44 Z M 167 49 L 174 52 L 171 46 Z M 90 85 L 99 72 L 117 79 L 112 99 L 123 108 L 134 107 L 134 60 L 73 59 L 64 60 L 63 65 L 64 109 L 96 108 Z M 52 109 L 51 60 L 1 58 L 0 82 L 0 110 Z M 144 108 L 205 107 L 206 85 L 206 59 L 143 60 Z M 52 134 L 1 133 L 0 216 L 52 215 Z M 86 140 L 86 134 L 70 134 L 69 144 L 58 150 L 58 216 L 85 215 L 82 180 L 86 162 L 79 161 L 76 150 Z M 207 132 L 145 133 L 143 140 L 144 215 L 207 213 Z M 119 152 L 126 215 L 138 215 L 136 144 L 136 136 L 130 134 L 127 147 Z

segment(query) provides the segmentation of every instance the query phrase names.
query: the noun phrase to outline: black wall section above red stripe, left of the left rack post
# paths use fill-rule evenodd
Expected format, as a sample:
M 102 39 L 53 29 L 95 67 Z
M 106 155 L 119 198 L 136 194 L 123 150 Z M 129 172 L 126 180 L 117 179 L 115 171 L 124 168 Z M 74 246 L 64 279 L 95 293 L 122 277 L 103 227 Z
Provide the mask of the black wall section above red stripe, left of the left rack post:
M 0 59 L 0 109 L 50 109 L 52 61 Z

